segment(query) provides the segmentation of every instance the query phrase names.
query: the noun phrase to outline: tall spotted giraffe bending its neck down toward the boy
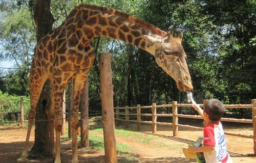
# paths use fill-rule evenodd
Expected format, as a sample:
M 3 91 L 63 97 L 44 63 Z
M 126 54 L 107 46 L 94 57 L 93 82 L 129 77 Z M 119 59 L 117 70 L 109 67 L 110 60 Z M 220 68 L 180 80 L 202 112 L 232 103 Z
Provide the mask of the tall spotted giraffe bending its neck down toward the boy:
M 50 80 L 51 88 L 49 124 L 55 163 L 61 162 L 62 96 L 66 85 L 74 79 L 74 103 L 71 112 L 72 162 L 78 162 L 77 115 L 80 95 L 95 59 L 91 42 L 94 37 L 121 40 L 150 52 L 156 58 L 156 63 L 174 78 L 179 90 L 193 90 L 186 54 L 181 45 L 183 35 L 180 30 L 177 31 L 176 37 L 173 35 L 172 27 L 168 32 L 164 32 L 152 24 L 117 10 L 87 4 L 75 7 L 67 19 L 57 29 L 42 37 L 35 47 L 29 79 L 31 109 L 22 162 L 27 161 L 35 108 L 47 79 Z

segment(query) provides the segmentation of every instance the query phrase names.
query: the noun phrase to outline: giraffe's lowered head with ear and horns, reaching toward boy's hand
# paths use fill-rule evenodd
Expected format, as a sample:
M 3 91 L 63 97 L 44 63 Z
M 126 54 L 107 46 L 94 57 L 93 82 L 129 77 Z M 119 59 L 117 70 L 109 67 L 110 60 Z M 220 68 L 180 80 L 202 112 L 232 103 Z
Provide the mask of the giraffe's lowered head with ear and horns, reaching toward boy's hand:
M 177 30 L 177 37 L 173 36 L 173 27 L 170 26 L 167 36 L 152 37 L 143 35 L 148 51 L 155 56 L 157 64 L 172 76 L 181 91 L 193 90 L 191 78 L 186 63 L 186 54 L 181 45 L 182 33 Z

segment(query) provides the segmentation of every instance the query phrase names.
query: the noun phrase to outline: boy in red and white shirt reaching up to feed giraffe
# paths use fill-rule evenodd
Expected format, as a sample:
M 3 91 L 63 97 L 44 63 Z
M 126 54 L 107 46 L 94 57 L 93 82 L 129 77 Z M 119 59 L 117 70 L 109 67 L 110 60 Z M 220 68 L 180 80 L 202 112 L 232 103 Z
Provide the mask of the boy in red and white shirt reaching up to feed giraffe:
M 232 162 L 226 146 L 226 140 L 221 117 L 225 107 L 223 103 L 216 99 L 210 99 L 205 103 L 204 110 L 198 105 L 193 104 L 196 111 L 204 118 L 204 140 L 201 147 L 189 147 L 193 153 L 204 152 L 207 163 Z

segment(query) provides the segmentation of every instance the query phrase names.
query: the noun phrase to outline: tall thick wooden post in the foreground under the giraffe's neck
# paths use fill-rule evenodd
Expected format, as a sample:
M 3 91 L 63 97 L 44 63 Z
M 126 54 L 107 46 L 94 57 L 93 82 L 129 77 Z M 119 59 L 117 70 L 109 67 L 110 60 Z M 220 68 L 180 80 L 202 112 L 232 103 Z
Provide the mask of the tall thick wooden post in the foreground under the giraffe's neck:
M 110 53 L 100 53 L 99 59 L 105 162 L 117 162 Z

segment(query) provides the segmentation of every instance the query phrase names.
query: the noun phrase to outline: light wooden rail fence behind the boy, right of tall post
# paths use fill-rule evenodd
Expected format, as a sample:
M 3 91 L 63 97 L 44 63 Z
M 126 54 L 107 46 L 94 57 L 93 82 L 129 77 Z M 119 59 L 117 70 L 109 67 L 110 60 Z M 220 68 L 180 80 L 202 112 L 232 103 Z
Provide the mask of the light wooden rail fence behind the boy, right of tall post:
M 204 107 L 204 103 L 207 100 L 204 100 L 203 104 L 199 104 L 201 107 Z M 157 110 L 162 108 L 169 107 L 172 108 L 172 114 L 157 114 Z M 166 126 L 173 126 L 173 135 L 174 137 L 178 135 L 178 127 L 185 128 L 185 129 L 192 129 L 192 130 L 203 130 L 202 127 L 195 127 L 190 125 L 183 125 L 178 123 L 178 117 L 182 118 L 193 118 L 193 119 L 203 119 L 201 116 L 197 115 L 183 115 L 178 114 L 178 107 L 192 107 L 192 104 L 178 104 L 177 101 L 173 101 L 172 104 L 165 104 L 165 105 L 156 105 L 156 103 L 152 103 L 151 106 L 140 106 L 139 104 L 134 107 L 114 107 L 115 111 L 115 120 L 118 124 L 119 121 L 124 121 L 126 126 L 129 126 L 129 122 L 137 123 L 137 129 L 140 130 L 141 123 L 152 124 L 152 132 L 157 131 L 157 125 L 166 125 Z M 235 119 L 235 118 L 222 118 L 221 121 L 227 122 L 239 122 L 239 123 L 252 123 L 253 126 L 253 135 L 245 135 L 240 133 L 230 133 L 225 132 L 227 135 L 233 135 L 242 138 L 249 138 L 253 139 L 254 143 L 254 155 L 256 155 L 256 99 L 251 100 L 251 104 L 229 104 L 225 105 L 226 109 L 229 108 L 241 108 L 241 109 L 251 109 L 252 110 L 252 119 Z M 151 113 L 143 114 L 141 110 L 151 110 Z M 193 108 L 191 108 L 193 109 Z M 151 121 L 142 121 L 141 117 L 152 117 Z M 131 120 L 131 117 L 136 120 Z M 158 122 L 158 117 L 173 117 L 172 123 L 167 122 Z

